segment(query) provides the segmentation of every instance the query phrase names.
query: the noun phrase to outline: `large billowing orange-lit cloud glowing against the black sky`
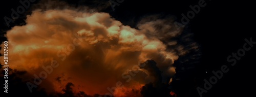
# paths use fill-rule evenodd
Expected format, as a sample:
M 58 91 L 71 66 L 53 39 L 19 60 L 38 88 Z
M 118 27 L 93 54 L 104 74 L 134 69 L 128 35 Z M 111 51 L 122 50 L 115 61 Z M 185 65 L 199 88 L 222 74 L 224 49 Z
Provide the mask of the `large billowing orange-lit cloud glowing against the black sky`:
M 127 92 L 137 92 L 154 79 L 146 70 L 137 69 L 140 72 L 125 82 L 127 79 L 122 75 L 128 74 L 135 65 L 153 59 L 161 71 L 173 76 L 174 60 L 187 52 L 182 46 L 168 48 L 177 42 L 163 40 L 180 33 L 166 31 L 172 28 L 170 25 L 157 29 L 155 24 L 164 25 L 160 19 L 142 21 L 139 29 L 135 29 L 108 13 L 49 9 L 34 10 L 26 22 L 7 31 L 10 67 L 38 75 L 44 71 L 42 66 L 57 60 L 59 66 L 45 79 L 53 83 L 56 91 L 72 82 L 76 91 L 105 94 L 109 92 L 108 87 L 121 81 L 124 87 L 114 94 L 124 96 Z M 44 84 L 41 85 L 47 87 Z

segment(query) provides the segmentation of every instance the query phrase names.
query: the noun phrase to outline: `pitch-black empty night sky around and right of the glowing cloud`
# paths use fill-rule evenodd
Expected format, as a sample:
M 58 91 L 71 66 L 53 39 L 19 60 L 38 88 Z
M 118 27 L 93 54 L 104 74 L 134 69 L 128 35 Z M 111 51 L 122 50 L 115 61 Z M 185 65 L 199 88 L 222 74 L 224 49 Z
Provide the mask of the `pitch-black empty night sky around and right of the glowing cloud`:
M 70 4 L 77 5 L 78 1 L 68 0 Z M 125 25 L 135 27 L 136 23 L 143 18 L 144 15 L 161 14 L 174 15 L 177 20 L 181 20 L 181 14 L 186 14 L 191 9 L 189 5 L 196 5 L 198 0 L 193 1 L 132 1 L 124 0 L 120 6 L 115 7 L 115 12 L 111 8 L 103 10 L 110 13 L 115 19 L 121 21 Z M 206 7 L 201 8 L 195 18 L 191 19 L 187 27 L 194 33 L 194 39 L 201 46 L 202 58 L 196 67 L 193 75 L 196 75 L 198 84 L 203 86 L 203 79 L 209 79 L 212 76 L 212 70 L 220 70 L 223 64 L 227 64 L 229 72 L 225 73 L 221 80 L 215 84 L 203 96 L 248 96 L 254 93 L 255 80 L 253 68 L 255 65 L 256 45 L 251 50 L 246 51 L 244 57 L 237 61 L 234 67 L 227 62 L 227 56 L 232 52 L 237 52 L 242 48 L 244 39 L 252 38 L 256 41 L 254 33 L 254 9 L 252 2 L 242 1 L 207 1 Z M 1 4 L 1 41 L 3 31 L 10 29 L 5 25 L 4 16 L 10 17 L 12 8 L 16 8 L 20 4 L 18 1 L 2 1 Z M 80 5 L 93 5 L 92 3 L 84 3 Z M 29 14 L 29 13 L 28 13 Z M 20 17 L 22 18 L 22 17 Z M 22 22 L 22 19 L 20 21 Z M 12 24 L 13 25 L 13 24 Z M 208 73 L 205 73 L 208 72 Z M 188 77 L 184 74 L 184 78 Z M 200 83 L 200 80 L 202 81 Z M 2 81 L 1 81 L 2 82 Z M 184 81 L 184 84 L 186 81 Z M 183 83 L 179 84 L 182 88 L 186 88 Z M 192 90 L 190 96 L 198 96 L 197 91 Z M 1 91 L 1 94 L 3 92 Z M 253 95 L 252 95 L 253 96 Z

